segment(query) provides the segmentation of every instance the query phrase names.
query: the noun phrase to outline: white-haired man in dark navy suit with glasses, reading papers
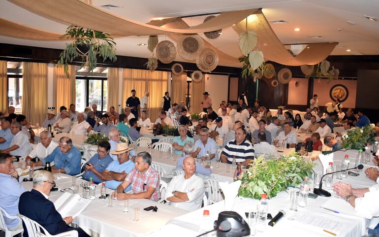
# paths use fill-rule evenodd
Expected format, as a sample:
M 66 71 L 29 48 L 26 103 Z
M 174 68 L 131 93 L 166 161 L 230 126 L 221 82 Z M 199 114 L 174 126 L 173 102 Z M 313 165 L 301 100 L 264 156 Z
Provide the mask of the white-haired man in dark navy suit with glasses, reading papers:
M 20 214 L 36 221 L 49 234 L 57 235 L 66 231 L 76 230 L 79 237 L 89 237 L 82 229 L 68 226 L 72 222 L 72 217 L 62 218 L 55 209 L 54 203 L 48 200 L 54 176 L 50 171 L 38 170 L 33 174 L 33 189 L 20 196 L 18 209 Z M 24 237 L 29 237 L 25 223 Z

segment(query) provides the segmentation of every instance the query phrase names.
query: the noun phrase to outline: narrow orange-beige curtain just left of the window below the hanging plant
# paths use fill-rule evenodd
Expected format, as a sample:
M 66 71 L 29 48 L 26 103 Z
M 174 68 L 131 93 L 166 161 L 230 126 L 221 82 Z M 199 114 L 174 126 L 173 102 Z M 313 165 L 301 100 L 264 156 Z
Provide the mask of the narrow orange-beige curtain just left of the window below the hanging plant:
M 68 106 L 73 103 L 75 104 L 75 65 L 68 66 L 68 73 L 70 77 L 68 78 L 64 73 L 63 67 L 54 67 L 54 91 L 55 93 L 55 108 L 57 113 L 59 113 L 59 107 L 62 105 Z

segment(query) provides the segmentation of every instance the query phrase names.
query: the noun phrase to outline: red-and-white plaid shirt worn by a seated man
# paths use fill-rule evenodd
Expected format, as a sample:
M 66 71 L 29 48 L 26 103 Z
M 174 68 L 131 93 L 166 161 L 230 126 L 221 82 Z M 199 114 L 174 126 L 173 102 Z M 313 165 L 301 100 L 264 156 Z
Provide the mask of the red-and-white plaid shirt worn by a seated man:
M 158 201 L 160 198 L 160 182 L 159 173 L 153 169 L 151 166 L 146 170 L 145 173 L 137 171 L 135 168 L 132 169 L 126 176 L 126 182 L 131 184 L 131 190 L 133 193 L 143 193 L 147 191 L 148 187 L 155 188 L 153 195 L 150 200 Z

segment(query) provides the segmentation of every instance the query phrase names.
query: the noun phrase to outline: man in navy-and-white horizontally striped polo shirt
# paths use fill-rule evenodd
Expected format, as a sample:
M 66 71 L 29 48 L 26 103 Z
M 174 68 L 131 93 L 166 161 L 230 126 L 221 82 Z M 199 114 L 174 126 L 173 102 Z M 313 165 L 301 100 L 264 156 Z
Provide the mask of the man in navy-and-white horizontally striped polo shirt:
M 236 130 L 234 140 L 229 141 L 221 153 L 221 162 L 232 164 L 233 158 L 243 166 L 248 166 L 254 159 L 252 143 L 246 139 L 246 131 L 243 128 Z

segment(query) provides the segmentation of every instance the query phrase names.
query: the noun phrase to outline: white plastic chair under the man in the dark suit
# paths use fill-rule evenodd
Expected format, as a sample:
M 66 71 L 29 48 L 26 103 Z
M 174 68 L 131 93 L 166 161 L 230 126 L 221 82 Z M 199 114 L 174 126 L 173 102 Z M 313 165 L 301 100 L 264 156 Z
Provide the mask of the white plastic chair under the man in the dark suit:
M 21 214 L 18 214 L 17 216 L 24 221 L 29 237 L 78 237 L 78 232 L 74 230 L 67 231 L 55 236 L 50 235 L 45 228 L 43 228 L 32 219 Z M 45 234 L 42 234 L 41 231 L 43 231 Z

